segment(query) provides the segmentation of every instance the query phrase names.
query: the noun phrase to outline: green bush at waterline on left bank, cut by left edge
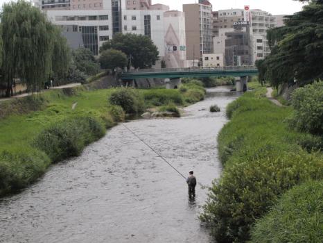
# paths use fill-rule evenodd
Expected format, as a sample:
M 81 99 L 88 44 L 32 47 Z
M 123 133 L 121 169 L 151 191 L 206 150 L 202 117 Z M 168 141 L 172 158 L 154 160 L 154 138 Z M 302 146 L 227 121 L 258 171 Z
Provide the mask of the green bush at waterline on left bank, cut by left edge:
M 19 149 L 0 153 L 0 196 L 30 185 L 49 166 L 49 157 L 41 151 Z

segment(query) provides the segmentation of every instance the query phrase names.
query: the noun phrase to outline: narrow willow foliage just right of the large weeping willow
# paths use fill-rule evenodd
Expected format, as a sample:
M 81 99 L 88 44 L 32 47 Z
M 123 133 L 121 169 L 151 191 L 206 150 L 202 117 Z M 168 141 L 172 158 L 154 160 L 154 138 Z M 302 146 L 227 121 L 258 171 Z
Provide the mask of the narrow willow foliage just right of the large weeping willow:
M 53 31 L 53 55 L 52 55 L 52 73 L 51 76 L 55 81 L 66 78 L 71 64 L 71 49 L 67 40 L 60 31 L 55 27 Z

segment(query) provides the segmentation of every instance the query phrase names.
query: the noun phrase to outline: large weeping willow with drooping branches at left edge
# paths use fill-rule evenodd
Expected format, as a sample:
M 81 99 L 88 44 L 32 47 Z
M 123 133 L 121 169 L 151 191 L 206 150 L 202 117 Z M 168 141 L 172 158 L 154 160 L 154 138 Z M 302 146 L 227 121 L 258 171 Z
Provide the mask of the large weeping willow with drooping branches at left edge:
M 20 78 L 31 92 L 39 91 L 52 66 L 54 27 L 42 12 L 26 1 L 3 4 L 1 12 L 2 72 L 6 95 Z

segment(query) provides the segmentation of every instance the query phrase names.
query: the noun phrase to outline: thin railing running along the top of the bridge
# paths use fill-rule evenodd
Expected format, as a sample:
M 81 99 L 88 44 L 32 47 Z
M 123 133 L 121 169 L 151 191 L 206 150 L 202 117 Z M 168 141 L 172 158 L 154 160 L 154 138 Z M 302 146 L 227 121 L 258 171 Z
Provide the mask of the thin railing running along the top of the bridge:
M 163 72 L 214 72 L 214 71 L 256 71 L 254 66 L 227 66 L 227 67 L 182 67 L 182 68 L 150 68 L 150 69 L 131 69 L 125 74 L 134 73 L 163 73 Z

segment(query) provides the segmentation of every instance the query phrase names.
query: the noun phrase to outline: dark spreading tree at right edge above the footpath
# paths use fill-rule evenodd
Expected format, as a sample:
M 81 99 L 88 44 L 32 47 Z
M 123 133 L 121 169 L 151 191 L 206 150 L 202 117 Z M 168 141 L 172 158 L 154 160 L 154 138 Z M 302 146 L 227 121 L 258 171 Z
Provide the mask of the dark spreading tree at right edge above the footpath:
M 323 0 L 287 16 L 285 26 L 268 31 L 268 41 L 272 51 L 259 63 L 262 79 L 278 87 L 294 78 L 300 85 L 323 78 Z

